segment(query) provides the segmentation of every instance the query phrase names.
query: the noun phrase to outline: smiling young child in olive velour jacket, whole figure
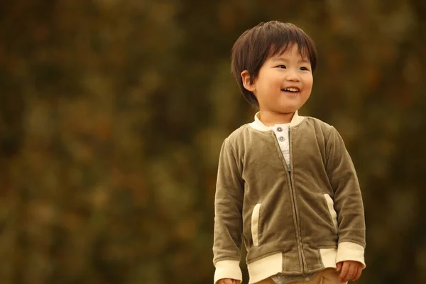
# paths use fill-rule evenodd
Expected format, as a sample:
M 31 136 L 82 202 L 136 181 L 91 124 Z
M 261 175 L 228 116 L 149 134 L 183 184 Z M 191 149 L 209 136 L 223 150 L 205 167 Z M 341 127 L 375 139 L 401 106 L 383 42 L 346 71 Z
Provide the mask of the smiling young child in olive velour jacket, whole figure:
M 232 49 L 232 72 L 259 111 L 231 133 L 219 158 L 214 283 L 344 283 L 365 268 L 364 207 L 341 136 L 299 116 L 317 52 L 291 23 L 261 23 Z

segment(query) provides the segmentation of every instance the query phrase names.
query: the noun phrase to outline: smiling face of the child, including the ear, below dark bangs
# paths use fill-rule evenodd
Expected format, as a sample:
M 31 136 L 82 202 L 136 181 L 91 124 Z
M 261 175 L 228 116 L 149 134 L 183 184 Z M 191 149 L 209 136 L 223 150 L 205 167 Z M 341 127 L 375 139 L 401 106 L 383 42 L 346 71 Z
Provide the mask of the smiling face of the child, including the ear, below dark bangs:
M 249 91 L 258 99 L 260 111 L 288 114 L 305 104 L 310 97 L 312 84 L 310 62 L 302 58 L 297 44 L 293 44 L 285 53 L 268 58 L 253 84 L 247 87 L 244 84 L 244 87 L 251 88 Z

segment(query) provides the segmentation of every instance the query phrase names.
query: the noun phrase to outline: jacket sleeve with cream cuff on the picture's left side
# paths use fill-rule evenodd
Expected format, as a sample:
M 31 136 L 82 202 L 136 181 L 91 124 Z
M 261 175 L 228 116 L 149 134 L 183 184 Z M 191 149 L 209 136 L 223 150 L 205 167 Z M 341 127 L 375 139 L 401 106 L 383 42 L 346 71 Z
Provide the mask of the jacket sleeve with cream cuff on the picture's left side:
M 239 266 L 244 199 L 241 167 L 226 138 L 219 156 L 214 199 L 214 283 L 223 278 L 242 280 Z

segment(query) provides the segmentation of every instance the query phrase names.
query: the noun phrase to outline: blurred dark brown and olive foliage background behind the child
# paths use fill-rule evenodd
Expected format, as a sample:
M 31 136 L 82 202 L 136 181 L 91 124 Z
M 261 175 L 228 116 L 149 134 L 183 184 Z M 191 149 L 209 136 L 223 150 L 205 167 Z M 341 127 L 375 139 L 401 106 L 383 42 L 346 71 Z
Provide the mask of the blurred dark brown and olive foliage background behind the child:
M 358 283 L 426 283 L 423 0 L 1 1 L 0 283 L 212 283 L 219 150 L 254 114 L 230 50 L 269 20 L 317 44 L 300 114 L 358 170 Z

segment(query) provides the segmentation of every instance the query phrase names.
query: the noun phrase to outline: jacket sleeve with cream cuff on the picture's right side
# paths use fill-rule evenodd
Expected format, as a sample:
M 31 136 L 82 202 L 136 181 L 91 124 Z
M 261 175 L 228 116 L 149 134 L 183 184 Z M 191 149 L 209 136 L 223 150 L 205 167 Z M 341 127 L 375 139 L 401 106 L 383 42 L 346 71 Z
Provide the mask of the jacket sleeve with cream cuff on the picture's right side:
M 334 209 L 339 225 L 339 245 L 336 262 L 359 261 L 365 268 L 364 205 L 354 164 L 344 141 L 332 127 L 327 141 L 327 174 L 334 190 Z

